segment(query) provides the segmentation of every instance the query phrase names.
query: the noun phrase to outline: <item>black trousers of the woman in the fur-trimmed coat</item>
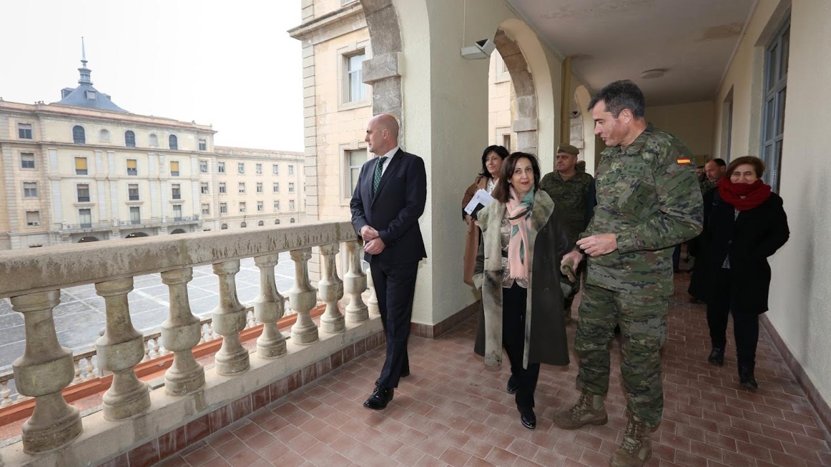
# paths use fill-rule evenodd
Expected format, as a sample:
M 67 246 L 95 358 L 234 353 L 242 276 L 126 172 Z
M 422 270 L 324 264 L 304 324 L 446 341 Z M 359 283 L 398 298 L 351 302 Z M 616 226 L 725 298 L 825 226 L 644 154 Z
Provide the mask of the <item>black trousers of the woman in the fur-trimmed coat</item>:
M 537 389 L 539 363 L 522 367 L 525 348 L 525 306 L 528 289 L 514 284 L 502 289 L 502 344 L 511 362 L 511 374 L 519 382 L 514 399 L 518 409 L 534 408 L 534 391 Z

